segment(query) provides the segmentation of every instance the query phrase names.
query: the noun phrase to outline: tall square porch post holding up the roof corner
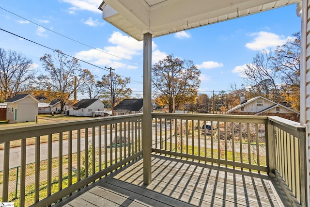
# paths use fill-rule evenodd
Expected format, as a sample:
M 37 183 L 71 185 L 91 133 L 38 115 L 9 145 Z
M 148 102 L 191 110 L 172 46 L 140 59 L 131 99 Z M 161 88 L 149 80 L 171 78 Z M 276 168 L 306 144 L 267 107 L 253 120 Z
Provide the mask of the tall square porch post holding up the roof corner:
M 143 37 L 143 183 L 151 183 L 152 156 L 152 34 L 145 33 Z

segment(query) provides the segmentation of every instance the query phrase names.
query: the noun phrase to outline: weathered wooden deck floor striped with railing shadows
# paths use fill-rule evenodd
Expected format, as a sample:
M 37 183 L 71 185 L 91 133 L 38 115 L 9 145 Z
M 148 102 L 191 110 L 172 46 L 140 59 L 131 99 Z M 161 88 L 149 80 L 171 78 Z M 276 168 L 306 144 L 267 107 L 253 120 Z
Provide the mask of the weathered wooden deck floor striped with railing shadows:
M 188 160 L 153 155 L 152 183 L 143 184 L 143 159 L 63 200 L 65 207 L 288 207 L 276 179 Z

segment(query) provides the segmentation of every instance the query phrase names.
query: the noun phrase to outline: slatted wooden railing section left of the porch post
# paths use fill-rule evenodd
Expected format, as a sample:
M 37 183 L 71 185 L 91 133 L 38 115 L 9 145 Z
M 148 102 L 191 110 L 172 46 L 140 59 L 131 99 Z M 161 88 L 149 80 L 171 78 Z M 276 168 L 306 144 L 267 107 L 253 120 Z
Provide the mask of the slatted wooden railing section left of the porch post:
M 141 126 L 135 114 L 0 129 L 0 202 L 62 200 L 142 156 Z

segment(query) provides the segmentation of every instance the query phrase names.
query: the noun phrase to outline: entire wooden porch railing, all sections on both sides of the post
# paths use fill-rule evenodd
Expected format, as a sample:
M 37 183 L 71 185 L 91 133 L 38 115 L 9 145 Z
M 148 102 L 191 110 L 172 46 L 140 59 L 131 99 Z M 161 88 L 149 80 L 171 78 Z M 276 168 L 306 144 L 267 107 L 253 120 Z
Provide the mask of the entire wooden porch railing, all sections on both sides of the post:
M 0 202 L 51 205 L 141 157 L 142 116 L 0 129 Z M 276 176 L 292 204 L 308 205 L 306 132 L 299 123 L 175 113 L 152 119 L 153 153 Z

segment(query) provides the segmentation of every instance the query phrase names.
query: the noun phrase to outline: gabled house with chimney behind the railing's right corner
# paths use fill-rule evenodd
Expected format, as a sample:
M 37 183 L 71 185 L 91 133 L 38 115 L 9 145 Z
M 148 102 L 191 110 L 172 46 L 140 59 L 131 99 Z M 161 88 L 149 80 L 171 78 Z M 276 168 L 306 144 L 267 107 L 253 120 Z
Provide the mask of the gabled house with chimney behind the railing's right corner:
M 241 96 L 240 104 L 228 110 L 226 113 L 236 115 L 280 116 L 293 121 L 299 121 L 299 113 L 297 111 L 263 96 L 257 96 L 247 101 L 245 100 L 245 96 Z

